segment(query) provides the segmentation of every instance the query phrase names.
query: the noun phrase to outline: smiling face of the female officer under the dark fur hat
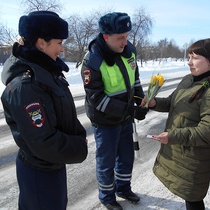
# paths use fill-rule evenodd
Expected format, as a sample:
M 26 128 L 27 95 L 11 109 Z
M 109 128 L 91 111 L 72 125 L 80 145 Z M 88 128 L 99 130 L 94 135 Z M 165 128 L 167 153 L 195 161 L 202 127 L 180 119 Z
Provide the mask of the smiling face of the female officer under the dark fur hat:
M 49 42 L 46 42 L 44 39 L 40 39 L 39 41 L 37 42 L 37 48 L 50 56 L 53 60 L 56 60 L 59 54 L 64 51 L 62 39 L 51 39 Z

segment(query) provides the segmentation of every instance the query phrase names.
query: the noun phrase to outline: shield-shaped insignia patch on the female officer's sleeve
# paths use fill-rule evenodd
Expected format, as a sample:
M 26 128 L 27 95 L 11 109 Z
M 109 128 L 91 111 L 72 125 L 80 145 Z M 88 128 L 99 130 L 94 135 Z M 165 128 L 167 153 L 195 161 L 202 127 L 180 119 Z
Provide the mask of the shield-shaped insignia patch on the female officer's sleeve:
M 30 123 L 35 127 L 42 127 L 45 122 L 45 112 L 39 102 L 33 102 L 25 106 Z

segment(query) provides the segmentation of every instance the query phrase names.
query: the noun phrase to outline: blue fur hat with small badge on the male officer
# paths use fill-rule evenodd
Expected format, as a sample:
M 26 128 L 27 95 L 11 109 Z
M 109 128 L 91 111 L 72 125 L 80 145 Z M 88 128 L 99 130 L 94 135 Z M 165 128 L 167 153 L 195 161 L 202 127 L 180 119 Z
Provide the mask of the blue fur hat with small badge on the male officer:
M 131 20 L 127 13 L 108 13 L 99 20 L 102 34 L 121 34 L 130 31 L 131 28 Z

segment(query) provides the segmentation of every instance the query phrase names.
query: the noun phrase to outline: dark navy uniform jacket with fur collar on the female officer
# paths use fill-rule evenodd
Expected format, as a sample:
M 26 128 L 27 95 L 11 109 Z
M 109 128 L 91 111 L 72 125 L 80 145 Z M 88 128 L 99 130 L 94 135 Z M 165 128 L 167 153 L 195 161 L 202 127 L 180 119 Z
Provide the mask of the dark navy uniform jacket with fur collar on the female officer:
M 77 119 L 62 71 L 68 66 L 34 47 L 13 46 L 6 61 L 1 100 L 19 156 L 40 170 L 86 159 L 86 131 Z

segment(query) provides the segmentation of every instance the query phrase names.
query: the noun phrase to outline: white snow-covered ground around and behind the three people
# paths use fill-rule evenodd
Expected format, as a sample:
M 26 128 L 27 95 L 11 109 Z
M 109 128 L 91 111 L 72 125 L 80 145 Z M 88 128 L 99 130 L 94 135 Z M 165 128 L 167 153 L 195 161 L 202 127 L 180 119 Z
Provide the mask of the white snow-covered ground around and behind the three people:
M 74 96 L 84 94 L 80 71 L 75 68 L 75 63 L 68 63 L 70 71 L 66 74 L 70 83 L 70 89 Z M 147 62 L 139 67 L 142 84 L 148 84 L 153 74 L 161 73 L 165 79 L 183 77 L 190 73 L 186 63 L 169 61 L 164 63 Z M 0 68 L 1 71 L 1 68 Z M 168 82 L 164 85 L 177 83 Z M 3 85 L 0 84 L 0 92 Z M 144 88 L 146 90 L 146 88 Z M 159 96 L 169 95 L 173 89 L 162 91 Z M 84 104 L 84 101 L 76 101 L 76 106 Z M 139 134 L 140 156 L 135 159 L 132 189 L 141 197 L 140 204 L 130 204 L 118 199 L 125 210 L 184 210 L 182 199 L 170 193 L 154 176 L 152 167 L 159 149 L 159 142 L 147 139 L 147 134 L 162 132 L 167 114 L 150 111 L 145 120 L 137 122 Z M 79 115 L 82 123 L 88 121 L 85 114 Z M 0 123 L 5 123 L 3 120 Z M 1 124 L 1 125 L 2 125 Z M 14 144 L 10 138 L 0 141 L 0 150 L 7 149 Z M 97 183 L 95 179 L 95 144 L 93 135 L 88 136 L 89 155 L 81 164 L 68 165 L 68 210 L 104 210 L 98 200 Z M 83 171 L 81 171 L 83 170 Z M 15 177 L 15 166 L 0 169 L 0 210 L 17 209 L 18 187 Z M 76 178 L 75 178 L 76 177 Z M 87 181 L 87 182 L 86 182 Z M 86 184 L 84 184 L 86 182 Z M 6 185 L 10 187 L 5 187 Z M 82 189 L 82 190 L 81 190 Z M 9 199 L 8 199 L 9 198 Z M 206 209 L 210 210 L 209 194 L 205 198 Z

